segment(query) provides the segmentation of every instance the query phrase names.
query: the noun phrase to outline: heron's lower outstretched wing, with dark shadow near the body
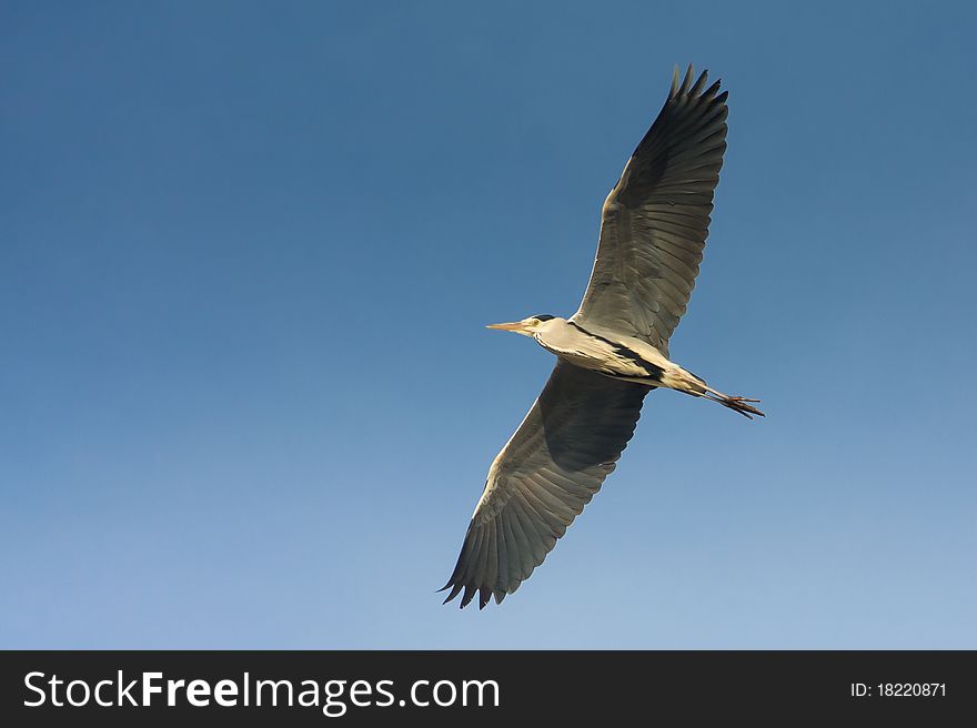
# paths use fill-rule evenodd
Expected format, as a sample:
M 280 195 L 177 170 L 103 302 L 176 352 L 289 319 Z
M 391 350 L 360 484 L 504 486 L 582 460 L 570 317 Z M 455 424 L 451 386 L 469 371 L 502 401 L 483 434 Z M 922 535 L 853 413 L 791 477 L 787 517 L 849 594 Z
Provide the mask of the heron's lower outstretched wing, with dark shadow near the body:
M 445 603 L 501 603 L 528 578 L 614 471 L 649 391 L 557 362 L 488 468 Z

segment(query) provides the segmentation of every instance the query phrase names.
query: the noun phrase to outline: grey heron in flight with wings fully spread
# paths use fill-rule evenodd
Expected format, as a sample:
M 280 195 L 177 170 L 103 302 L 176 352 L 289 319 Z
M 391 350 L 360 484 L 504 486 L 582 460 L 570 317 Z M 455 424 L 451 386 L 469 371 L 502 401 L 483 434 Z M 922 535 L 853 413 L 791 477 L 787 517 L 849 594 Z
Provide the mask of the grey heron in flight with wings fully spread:
M 556 355 L 550 380 L 488 468 L 447 584 L 447 604 L 479 608 L 514 593 L 615 469 L 655 388 L 703 397 L 745 417 L 759 400 L 729 396 L 669 358 L 708 236 L 726 151 L 727 91 L 675 67 L 664 107 L 601 212 L 597 254 L 570 318 L 536 314 L 488 328 L 531 336 Z

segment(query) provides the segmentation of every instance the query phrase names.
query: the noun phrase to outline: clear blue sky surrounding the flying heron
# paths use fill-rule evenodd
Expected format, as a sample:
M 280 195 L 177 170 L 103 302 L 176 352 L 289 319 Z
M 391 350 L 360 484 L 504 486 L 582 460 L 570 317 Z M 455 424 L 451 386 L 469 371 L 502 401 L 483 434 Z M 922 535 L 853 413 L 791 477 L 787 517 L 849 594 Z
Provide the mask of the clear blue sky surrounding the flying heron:
M 977 648 L 973 3 L 4 2 L 0 646 Z M 675 63 L 673 357 L 501 607 L 434 592 Z M 442 595 L 443 596 L 443 595 Z

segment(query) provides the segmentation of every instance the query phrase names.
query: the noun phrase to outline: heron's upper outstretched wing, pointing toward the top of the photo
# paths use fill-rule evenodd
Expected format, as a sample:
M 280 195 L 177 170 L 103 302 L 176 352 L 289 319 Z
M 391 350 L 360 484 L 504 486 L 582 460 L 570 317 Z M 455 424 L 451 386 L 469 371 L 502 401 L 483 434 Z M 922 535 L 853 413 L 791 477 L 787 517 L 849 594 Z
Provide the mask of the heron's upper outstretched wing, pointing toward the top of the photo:
M 708 235 L 726 151 L 726 95 L 692 67 L 604 202 L 591 281 L 573 318 L 636 336 L 668 355 Z

